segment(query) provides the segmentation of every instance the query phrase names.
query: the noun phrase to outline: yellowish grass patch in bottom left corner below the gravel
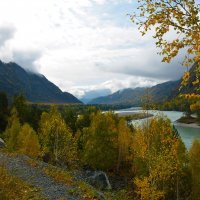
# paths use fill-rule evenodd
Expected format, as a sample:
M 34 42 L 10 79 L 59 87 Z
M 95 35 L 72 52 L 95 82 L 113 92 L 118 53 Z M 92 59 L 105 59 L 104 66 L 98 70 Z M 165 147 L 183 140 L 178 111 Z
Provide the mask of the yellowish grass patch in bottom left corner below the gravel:
M 26 182 L 11 176 L 7 170 L 0 166 L 0 200 L 43 200 L 40 191 Z

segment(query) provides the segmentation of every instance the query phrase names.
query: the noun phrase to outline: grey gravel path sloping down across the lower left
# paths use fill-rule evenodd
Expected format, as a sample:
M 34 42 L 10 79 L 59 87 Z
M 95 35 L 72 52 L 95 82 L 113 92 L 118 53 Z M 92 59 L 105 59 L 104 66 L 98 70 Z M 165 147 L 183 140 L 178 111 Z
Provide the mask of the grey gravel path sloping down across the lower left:
M 33 167 L 28 164 L 27 161 L 29 160 L 31 159 L 27 156 L 18 155 L 10 157 L 0 152 L 0 164 L 3 164 L 12 175 L 41 189 L 44 198 L 52 200 L 61 198 L 67 200 L 79 199 L 77 196 L 72 196 L 68 193 L 68 191 L 73 189 L 73 186 L 57 183 L 42 171 L 42 168 L 46 165 L 45 163 L 41 162 L 37 167 Z

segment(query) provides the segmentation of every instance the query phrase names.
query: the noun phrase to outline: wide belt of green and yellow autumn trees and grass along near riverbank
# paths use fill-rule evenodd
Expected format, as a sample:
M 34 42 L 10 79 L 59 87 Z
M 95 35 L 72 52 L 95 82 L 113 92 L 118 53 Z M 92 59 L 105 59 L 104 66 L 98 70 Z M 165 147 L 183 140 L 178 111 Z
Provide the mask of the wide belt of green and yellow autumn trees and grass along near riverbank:
M 6 95 L 1 98 L 1 138 L 6 142 L 2 157 L 5 152 L 27 155 L 29 166 L 36 169 L 44 161 L 40 173 L 66 184 L 74 199 L 101 199 L 87 182 L 74 178 L 88 169 L 106 172 L 113 183 L 122 180 L 113 190 L 103 191 L 106 199 L 199 199 L 200 142 L 195 140 L 188 152 L 167 118 L 157 116 L 134 127 L 124 117 L 95 107 L 44 109 L 27 104 L 22 95 L 8 107 Z M 0 196 L 30 199 L 25 192 L 32 199 L 43 198 L 34 197 L 41 188 L 15 181 L 6 165 L 0 169 L 5 177 L 0 180 Z

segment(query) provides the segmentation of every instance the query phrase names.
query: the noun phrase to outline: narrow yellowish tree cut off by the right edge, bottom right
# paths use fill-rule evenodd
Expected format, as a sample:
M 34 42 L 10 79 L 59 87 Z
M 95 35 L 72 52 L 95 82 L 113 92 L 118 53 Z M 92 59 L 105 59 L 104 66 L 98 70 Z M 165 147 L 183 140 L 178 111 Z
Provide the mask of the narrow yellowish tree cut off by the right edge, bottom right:
M 200 199 L 200 142 L 194 140 L 190 149 L 190 168 L 192 172 L 192 199 Z

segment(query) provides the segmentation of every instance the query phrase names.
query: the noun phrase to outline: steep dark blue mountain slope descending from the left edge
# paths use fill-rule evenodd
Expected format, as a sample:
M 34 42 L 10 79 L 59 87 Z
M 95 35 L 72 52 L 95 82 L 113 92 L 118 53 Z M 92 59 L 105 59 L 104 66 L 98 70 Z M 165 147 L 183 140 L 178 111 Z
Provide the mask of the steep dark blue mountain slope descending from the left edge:
M 68 92 L 62 92 L 41 74 L 25 71 L 16 63 L 0 61 L 0 91 L 11 99 L 23 93 L 33 103 L 82 103 Z

